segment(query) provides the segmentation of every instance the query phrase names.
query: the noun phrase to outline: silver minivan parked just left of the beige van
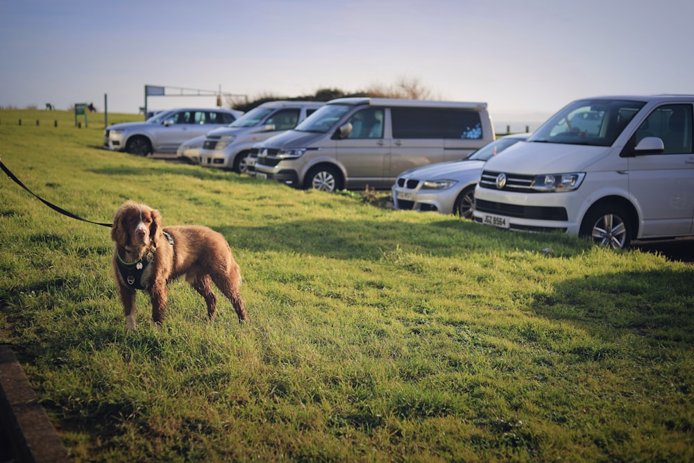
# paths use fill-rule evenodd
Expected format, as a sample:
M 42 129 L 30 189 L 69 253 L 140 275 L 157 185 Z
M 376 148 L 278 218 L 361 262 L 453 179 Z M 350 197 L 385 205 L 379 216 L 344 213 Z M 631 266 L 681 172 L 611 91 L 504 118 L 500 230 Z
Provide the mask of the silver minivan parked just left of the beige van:
M 198 156 L 204 167 L 247 173 L 246 156 L 251 146 L 267 140 L 306 119 L 323 106 L 318 101 L 268 101 L 246 112 L 228 127 L 207 134 Z M 195 142 L 197 143 L 197 141 Z M 194 155 L 187 149 L 188 155 Z

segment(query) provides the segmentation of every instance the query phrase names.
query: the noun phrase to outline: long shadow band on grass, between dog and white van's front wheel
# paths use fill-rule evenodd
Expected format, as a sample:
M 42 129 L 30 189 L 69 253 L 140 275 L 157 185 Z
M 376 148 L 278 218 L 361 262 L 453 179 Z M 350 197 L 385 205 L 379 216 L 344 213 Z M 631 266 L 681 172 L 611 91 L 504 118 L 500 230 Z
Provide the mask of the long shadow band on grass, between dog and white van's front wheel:
M 335 259 L 376 259 L 401 249 L 423 255 L 467 258 L 469 252 L 546 252 L 571 257 L 591 244 L 563 234 L 508 233 L 461 219 L 403 225 L 396 221 L 329 219 L 287 221 L 256 228 L 216 228 L 232 249 L 293 252 Z

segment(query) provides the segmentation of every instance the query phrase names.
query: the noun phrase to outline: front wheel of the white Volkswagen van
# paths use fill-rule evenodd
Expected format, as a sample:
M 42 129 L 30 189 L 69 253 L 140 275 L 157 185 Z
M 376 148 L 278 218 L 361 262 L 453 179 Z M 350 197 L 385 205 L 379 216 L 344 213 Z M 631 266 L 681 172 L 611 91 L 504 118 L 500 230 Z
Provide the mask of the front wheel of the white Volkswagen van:
M 579 235 L 590 237 L 600 246 L 624 249 L 629 246 L 632 233 L 632 224 L 627 212 L 617 205 L 604 204 L 588 211 Z

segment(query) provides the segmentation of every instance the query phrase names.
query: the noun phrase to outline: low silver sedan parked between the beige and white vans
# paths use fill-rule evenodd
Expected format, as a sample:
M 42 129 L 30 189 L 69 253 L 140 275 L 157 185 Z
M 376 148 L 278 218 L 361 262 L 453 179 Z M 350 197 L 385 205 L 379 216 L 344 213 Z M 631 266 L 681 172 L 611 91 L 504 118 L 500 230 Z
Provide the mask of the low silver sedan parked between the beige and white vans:
M 465 158 L 437 162 L 404 171 L 393 184 L 393 208 L 437 211 L 471 219 L 475 205 L 475 185 L 484 163 L 509 146 L 527 140 L 530 133 L 506 135 L 489 142 Z

